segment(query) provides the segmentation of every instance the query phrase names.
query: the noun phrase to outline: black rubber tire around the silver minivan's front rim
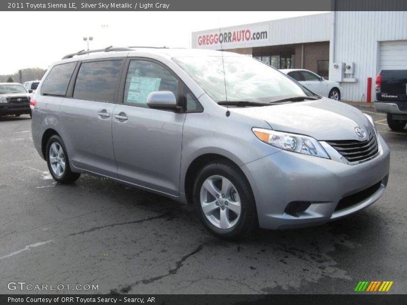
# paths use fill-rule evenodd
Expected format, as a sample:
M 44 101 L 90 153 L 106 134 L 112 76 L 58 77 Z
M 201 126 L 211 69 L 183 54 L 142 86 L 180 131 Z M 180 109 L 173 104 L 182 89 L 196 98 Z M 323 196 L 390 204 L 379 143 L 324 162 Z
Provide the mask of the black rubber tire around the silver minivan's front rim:
M 241 213 L 234 226 L 221 229 L 213 225 L 202 210 L 200 192 L 203 182 L 212 176 L 222 176 L 228 179 L 235 187 L 240 198 Z M 238 167 L 223 161 L 214 162 L 203 167 L 197 174 L 193 187 L 193 202 L 199 211 L 203 224 L 218 237 L 237 240 L 250 235 L 257 228 L 257 212 L 253 192 L 245 175 Z M 225 206 L 226 207 L 226 206 Z M 228 209 L 226 208 L 228 211 Z M 220 210 L 219 210 L 220 213 Z M 229 213 L 229 211 L 227 212 Z M 230 215 L 230 214 L 228 214 Z

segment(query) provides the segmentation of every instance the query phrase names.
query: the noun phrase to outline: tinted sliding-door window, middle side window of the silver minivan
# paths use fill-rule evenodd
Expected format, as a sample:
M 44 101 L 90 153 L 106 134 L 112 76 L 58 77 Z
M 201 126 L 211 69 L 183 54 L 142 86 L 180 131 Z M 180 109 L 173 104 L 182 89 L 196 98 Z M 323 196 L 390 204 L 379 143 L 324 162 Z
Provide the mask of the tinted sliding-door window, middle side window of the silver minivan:
M 73 97 L 81 100 L 113 102 L 122 60 L 82 63 Z

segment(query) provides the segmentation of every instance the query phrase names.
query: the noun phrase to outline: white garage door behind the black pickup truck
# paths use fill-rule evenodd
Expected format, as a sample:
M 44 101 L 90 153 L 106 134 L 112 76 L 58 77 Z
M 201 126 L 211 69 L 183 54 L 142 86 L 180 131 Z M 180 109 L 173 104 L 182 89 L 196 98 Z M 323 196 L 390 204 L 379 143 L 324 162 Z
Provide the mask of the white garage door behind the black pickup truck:
M 407 40 L 380 43 L 381 70 L 407 70 Z

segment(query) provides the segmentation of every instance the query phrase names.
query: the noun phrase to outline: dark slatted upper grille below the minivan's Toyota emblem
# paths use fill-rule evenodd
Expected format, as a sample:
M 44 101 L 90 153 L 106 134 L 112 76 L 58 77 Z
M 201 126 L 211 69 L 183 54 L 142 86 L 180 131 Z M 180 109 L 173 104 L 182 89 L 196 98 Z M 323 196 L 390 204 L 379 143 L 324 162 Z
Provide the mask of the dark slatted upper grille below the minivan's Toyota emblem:
M 340 140 L 326 141 L 349 162 L 363 162 L 374 158 L 379 153 L 379 144 L 374 131 L 370 132 L 366 141 Z

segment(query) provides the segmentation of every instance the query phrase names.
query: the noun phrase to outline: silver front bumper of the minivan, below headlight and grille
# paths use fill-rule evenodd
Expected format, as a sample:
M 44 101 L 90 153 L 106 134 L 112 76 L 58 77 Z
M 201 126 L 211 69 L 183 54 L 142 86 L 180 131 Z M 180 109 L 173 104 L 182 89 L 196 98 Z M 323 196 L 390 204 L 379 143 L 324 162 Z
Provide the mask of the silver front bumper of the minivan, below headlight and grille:
M 379 155 L 357 165 L 284 150 L 243 165 L 256 201 L 259 226 L 287 229 L 324 224 L 379 199 L 387 185 L 390 153 L 383 138 L 377 138 Z M 347 198 L 352 198 L 351 205 L 338 205 Z M 293 216 L 285 212 L 290 202 L 309 202 L 310 206 Z

